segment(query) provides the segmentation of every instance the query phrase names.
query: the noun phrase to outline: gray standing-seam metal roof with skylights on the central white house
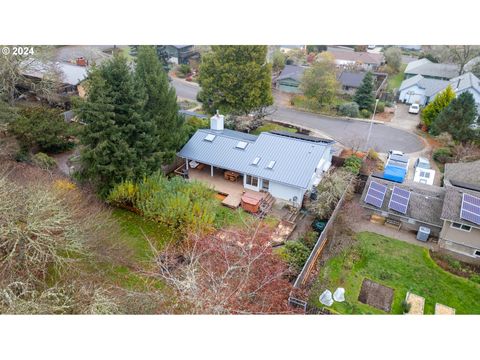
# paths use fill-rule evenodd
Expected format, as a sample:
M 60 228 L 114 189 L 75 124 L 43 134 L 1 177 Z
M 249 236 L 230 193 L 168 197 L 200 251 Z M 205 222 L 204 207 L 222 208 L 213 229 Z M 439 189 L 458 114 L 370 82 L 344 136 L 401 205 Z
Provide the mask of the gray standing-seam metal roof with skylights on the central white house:
M 216 135 L 212 142 L 205 140 L 208 134 Z M 244 150 L 236 148 L 239 140 L 248 142 Z M 178 156 L 306 189 L 324 152 L 330 151 L 330 147 L 331 144 L 268 132 L 256 137 L 227 129 L 200 129 Z M 256 157 L 261 159 L 257 165 L 252 165 Z M 272 160 L 275 165 L 273 169 L 268 169 L 267 165 Z

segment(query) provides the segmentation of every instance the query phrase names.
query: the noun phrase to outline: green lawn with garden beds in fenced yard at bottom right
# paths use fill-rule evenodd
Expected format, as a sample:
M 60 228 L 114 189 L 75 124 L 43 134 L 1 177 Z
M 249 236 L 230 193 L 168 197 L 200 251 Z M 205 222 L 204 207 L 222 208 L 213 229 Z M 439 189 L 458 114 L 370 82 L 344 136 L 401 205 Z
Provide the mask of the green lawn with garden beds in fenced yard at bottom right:
M 408 291 L 425 298 L 425 313 L 435 303 L 456 309 L 457 314 L 480 314 L 480 285 L 441 269 L 428 250 L 375 233 L 357 234 L 352 248 L 327 261 L 321 269 L 311 303 L 321 307 L 318 296 L 325 288 L 345 288 L 346 301 L 332 309 L 342 314 L 385 314 L 358 301 L 364 278 L 394 289 L 392 313 L 401 314 Z

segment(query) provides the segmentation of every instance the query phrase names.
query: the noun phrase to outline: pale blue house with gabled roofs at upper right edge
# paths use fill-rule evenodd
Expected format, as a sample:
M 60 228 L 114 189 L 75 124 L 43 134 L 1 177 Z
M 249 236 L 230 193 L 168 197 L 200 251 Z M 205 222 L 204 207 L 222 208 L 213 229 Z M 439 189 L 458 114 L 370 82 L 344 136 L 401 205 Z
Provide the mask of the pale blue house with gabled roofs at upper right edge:
M 472 73 L 465 73 L 449 81 L 415 75 L 404 80 L 400 85 L 399 100 L 407 104 L 424 106 L 431 102 L 439 92 L 445 90 L 448 85 L 452 87 L 457 96 L 465 91 L 470 92 L 480 109 L 480 80 Z

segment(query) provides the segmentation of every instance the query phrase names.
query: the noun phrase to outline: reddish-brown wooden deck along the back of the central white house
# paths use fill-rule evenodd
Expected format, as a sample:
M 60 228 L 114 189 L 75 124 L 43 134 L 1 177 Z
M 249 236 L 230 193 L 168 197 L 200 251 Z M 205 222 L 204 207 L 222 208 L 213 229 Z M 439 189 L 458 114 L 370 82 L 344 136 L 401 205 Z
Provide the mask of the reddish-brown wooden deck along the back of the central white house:
M 265 194 L 261 192 L 247 190 L 243 187 L 243 177 L 239 176 L 237 181 L 225 180 L 223 176 L 223 169 L 214 169 L 213 176 L 210 174 L 210 166 L 205 166 L 203 169 L 189 169 L 188 177 L 192 180 L 202 181 L 213 187 L 215 191 L 227 195 L 223 199 L 222 204 L 236 209 L 240 206 L 242 195 L 244 193 Z

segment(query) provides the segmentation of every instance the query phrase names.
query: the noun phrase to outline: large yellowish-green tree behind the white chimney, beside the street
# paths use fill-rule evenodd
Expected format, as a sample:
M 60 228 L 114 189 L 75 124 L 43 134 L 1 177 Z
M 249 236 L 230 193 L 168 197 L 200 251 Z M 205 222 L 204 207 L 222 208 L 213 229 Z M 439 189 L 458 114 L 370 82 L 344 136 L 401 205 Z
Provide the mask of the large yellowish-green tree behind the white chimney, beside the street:
M 266 57 L 266 46 L 212 46 L 200 65 L 204 109 L 246 115 L 272 105 L 272 70 Z

